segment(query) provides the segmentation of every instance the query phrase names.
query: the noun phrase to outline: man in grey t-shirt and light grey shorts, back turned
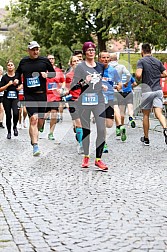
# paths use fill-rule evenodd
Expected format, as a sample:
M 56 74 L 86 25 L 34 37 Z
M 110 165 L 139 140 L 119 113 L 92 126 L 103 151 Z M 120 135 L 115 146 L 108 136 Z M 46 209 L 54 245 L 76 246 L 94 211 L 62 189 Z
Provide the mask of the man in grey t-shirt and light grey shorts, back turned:
M 153 108 L 156 118 L 163 127 L 165 143 L 167 144 L 167 123 L 162 114 L 163 91 L 160 85 L 160 78 L 167 77 L 167 71 L 161 61 L 151 55 L 151 46 L 148 43 L 142 45 L 142 59 L 137 62 L 136 78 L 142 80 L 141 109 L 143 112 L 144 137 L 141 141 L 149 145 L 149 115 Z

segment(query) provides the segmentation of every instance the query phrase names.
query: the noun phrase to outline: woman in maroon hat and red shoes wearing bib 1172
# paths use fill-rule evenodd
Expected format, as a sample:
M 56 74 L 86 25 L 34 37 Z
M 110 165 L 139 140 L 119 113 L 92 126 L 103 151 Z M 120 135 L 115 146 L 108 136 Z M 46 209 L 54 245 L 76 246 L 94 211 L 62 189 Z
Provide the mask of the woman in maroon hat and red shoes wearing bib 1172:
M 80 83 L 81 95 L 78 99 L 78 108 L 83 129 L 84 158 L 82 168 L 89 167 L 90 115 L 93 112 L 97 127 L 95 166 L 102 171 L 107 171 L 107 165 L 101 160 L 105 144 L 105 118 L 100 117 L 100 114 L 105 111 L 102 90 L 106 90 L 107 87 L 102 84 L 104 66 L 95 62 L 95 48 L 95 44 L 91 41 L 83 44 L 85 61 L 79 63 L 75 68 L 71 88 Z

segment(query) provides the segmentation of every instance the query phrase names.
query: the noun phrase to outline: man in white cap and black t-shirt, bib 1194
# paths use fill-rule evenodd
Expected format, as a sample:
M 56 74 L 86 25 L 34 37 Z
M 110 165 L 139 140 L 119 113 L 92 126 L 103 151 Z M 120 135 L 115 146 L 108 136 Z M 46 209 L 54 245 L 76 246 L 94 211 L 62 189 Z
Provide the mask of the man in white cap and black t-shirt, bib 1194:
M 46 57 L 39 56 L 40 46 L 36 41 L 28 44 L 28 56 L 24 57 L 16 70 L 16 80 L 23 75 L 25 105 L 29 116 L 29 135 L 33 156 L 40 155 L 38 130 L 43 126 L 46 111 L 46 78 L 55 75 L 54 68 Z

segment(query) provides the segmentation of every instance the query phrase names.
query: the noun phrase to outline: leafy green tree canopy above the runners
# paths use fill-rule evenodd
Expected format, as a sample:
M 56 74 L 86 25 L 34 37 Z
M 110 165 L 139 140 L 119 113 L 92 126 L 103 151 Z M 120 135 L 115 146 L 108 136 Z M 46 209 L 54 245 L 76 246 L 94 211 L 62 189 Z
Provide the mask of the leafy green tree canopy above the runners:
M 19 0 L 11 11 L 29 20 L 34 39 L 47 49 L 63 45 L 73 51 L 88 40 L 103 50 L 109 39 L 127 35 L 132 44 L 165 48 L 166 7 L 166 0 Z

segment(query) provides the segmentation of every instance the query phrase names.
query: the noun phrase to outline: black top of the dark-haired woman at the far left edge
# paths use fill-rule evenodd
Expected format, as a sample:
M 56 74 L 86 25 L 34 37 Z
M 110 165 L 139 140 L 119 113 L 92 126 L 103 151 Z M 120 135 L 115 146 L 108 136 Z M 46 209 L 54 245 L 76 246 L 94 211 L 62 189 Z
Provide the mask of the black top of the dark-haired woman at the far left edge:
M 10 77 L 7 74 L 5 74 L 5 75 L 3 75 L 2 79 L 1 79 L 0 86 L 3 87 L 6 84 L 8 84 L 9 81 L 14 81 L 14 79 L 16 79 L 16 76 Z M 16 90 L 17 87 L 18 87 L 18 85 L 16 85 L 16 86 L 11 85 L 11 86 L 7 87 L 7 89 L 4 91 L 4 97 L 7 98 L 7 96 L 9 95 L 9 92 L 10 92 L 10 94 L 13 94 L 14 97 L 16 94 L 17 97 L 15 97 L 14 99 L 18 98 L 19 92 Z M 12 98 L 12 96 L 11 96 L 11 98 Z

